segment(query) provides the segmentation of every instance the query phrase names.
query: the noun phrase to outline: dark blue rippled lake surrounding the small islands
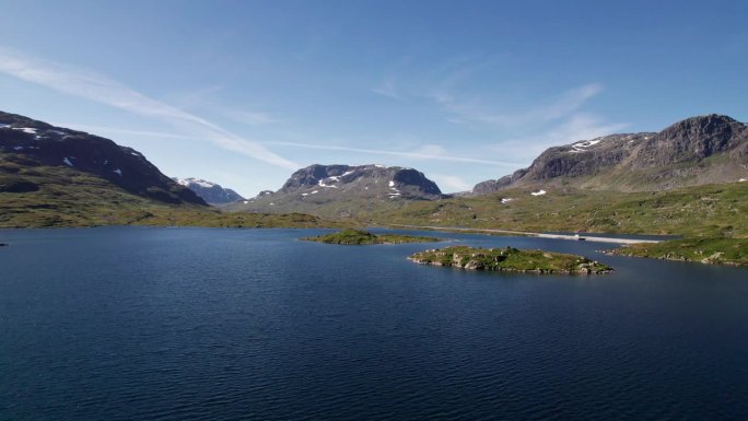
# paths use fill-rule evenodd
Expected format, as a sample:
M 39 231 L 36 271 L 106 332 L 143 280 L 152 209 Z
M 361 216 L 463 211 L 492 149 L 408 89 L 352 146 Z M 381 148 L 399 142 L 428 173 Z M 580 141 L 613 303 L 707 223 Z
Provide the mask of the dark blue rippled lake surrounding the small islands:
M 419 266 L 304 230 L 0 231 L 2 420 L 745 420 L 748 270 Z

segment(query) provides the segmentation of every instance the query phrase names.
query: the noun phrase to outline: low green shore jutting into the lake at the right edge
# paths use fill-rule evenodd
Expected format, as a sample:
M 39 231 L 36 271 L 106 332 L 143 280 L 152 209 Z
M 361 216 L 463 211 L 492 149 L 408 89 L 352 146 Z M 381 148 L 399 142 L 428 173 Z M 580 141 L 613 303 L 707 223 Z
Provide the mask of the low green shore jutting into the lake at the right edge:
M 606 253 L 665 260 L 748 266 L 748 238 L 682 238 L 664 243 L 632 244 Z

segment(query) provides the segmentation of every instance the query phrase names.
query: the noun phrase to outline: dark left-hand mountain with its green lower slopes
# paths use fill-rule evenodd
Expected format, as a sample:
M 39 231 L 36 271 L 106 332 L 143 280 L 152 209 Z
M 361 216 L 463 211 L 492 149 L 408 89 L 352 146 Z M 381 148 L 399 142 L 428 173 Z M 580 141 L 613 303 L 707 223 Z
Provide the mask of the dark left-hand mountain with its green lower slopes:
M 140 152 L 0 112 L 0 226 L 120 224 L 177 208 L 208 206 Z

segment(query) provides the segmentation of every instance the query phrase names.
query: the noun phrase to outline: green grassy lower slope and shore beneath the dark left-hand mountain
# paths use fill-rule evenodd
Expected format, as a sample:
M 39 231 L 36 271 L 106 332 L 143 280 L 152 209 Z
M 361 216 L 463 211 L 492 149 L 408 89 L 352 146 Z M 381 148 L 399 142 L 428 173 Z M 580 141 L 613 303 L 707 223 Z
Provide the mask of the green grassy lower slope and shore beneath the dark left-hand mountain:
M 129 194 L 106 179 L 61 166 L 25 167 L 0 154 L 0 227 L 96 225 L 338 226 L 316 217 L 223 213 Z

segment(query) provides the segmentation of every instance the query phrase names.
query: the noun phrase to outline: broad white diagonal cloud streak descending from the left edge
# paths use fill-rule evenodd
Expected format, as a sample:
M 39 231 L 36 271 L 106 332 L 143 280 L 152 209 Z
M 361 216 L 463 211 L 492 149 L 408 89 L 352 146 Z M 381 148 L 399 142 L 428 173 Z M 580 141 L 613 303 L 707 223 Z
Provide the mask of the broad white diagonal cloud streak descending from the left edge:
M 199 116 L 148 97 L 115 80 L 94 72 L 33 59 L 5 48 L 0 48 L 0 72 L 69 95 L 160 119 L 180 131 L 203 137 L 220 148 L 272 165 L 287 168 L 299 167 L 297 164 L 271 152 L 258 142 L 244 139 Z

